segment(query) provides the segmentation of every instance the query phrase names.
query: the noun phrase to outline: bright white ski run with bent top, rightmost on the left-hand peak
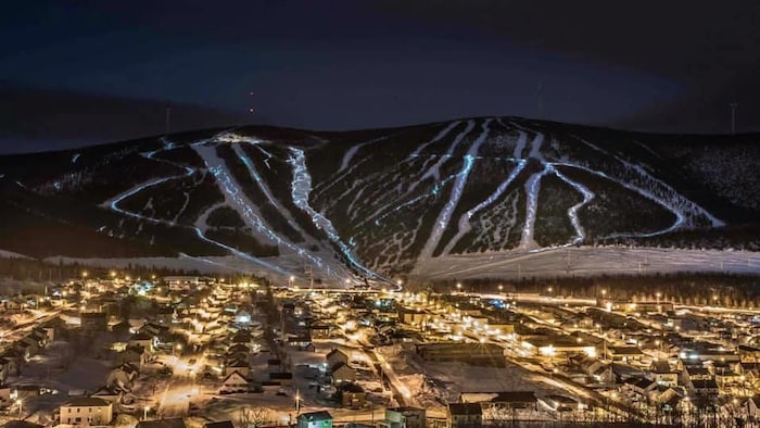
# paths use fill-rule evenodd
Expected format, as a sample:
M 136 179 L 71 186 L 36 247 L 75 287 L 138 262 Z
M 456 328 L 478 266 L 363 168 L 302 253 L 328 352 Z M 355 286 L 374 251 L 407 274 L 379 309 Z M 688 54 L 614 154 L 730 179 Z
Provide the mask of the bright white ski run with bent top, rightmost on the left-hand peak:
M 301 209 L 304 213 L 312 217 L 314 225 L 324 230 L 330 241 L 338 246 L 346 261 L 357 268 L 364 272 L 364 274 L 370 278 L 384 279 L 383 276 L 370 270 L 359 262 L 351 251 L 351 248 L 341 240 L 340 235 L 335 230 L 332 223 L 318 213 L 312 207 L 308 202 L 308 196 L 312 192 L 312 176 L 306 167 L 306 155 L 303 150 L 290 147 L 291 156 L 288 159 L 288 163 L 293 168 L 293 181 L 291 182 L 291 197 L 293 198 L 293 203 L 295 206 Z

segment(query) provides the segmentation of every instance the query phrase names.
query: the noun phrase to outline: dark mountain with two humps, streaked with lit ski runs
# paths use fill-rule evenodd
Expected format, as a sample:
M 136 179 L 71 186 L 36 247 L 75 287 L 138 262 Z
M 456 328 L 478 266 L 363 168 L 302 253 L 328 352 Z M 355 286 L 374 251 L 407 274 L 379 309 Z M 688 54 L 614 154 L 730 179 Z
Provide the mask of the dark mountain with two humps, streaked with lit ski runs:
M 0 249 L 385 279 L 559 249 L 758 251 L 759 166 L 759 135 L 519 117 L 208 129 L 0 156 Z

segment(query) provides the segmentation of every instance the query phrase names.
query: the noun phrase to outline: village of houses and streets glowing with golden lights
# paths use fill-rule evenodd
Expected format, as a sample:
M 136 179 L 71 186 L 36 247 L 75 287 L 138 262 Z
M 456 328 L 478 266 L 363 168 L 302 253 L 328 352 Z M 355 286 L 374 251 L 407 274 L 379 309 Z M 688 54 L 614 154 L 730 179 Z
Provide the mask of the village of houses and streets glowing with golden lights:
M 760 420 L 760 312 L 87 273 L 0 297 L 9 426 Z M 27 290 L 28 291 L 28 290 Z M 14 425 L 15 424 L 15 425 Z

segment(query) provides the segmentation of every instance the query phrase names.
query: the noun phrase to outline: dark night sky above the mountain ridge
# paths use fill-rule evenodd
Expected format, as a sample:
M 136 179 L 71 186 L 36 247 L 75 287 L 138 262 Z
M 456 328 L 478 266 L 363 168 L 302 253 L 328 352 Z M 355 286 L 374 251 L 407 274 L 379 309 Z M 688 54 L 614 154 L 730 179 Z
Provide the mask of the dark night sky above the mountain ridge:
M 12 2 L 0 151 L 161 134 L 166 105 L 173 130 L 519 115 L 726 133 L 737 102 L 737 129 L 760 130 L 760 3 L 722 3 Z

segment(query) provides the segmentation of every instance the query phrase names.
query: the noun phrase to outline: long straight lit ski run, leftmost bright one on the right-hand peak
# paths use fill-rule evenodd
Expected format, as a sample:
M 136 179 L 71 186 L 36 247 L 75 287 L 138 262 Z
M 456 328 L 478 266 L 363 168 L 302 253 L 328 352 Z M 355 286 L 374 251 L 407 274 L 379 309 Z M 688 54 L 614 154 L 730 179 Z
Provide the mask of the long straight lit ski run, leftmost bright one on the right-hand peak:
M 433 230 L 430 234 L 430 238 L 428 238 L 428 241 L 425 243 L 425 247 L 420 252 L 421 261 L 426 261 L 433 255 L 435 248 L 441 241 L 443 232 L 448 227 L 448 222 L 451 222 L 452 219 L 454 210 L 456 209 L 457 204 L 459 203 L 459 199 L 461 198 L 461 192 L 465 190 L 467 178 L 469 177 L 470 172 L 472 171 L 472 165 L 474 164 L 474 159 L 478 155 L 478 150 L 480 150 L 480 146 L 483 142 L 485 142 L 485 139 L 489 136 L 489 125 L 491 124 L 491 121 L 492 119 L 489 118 L 483 122 L 483 124 L 481 125 L 482 130 L 480 136 L 478 136 L 474 142 L 472 142 L 470 149 L 467 151 L 467 154 L 465 154 L 461 169 L 459 171 L 459 174 L 457 174 L 456 179 L 454 180 L 454 188 L 452 189 L 452 193 L 448 198 L 448 201 L 446 201 L 446 204 L 443 206 L 443 210 L 441 210 L 441 213 L 435 219 L 435 223 L 433 224 Z M 471 129 L 471 127 L 468 126 L 468 129 Z M 460 134 L 460 136 L 463 135 Z M 458 140 L 460 140 L 460 138 L 457 138 L 457 143 Z M 451 154 L 454 151 L 454 147 L 455 146 L 452 144 L 448 154 Z

